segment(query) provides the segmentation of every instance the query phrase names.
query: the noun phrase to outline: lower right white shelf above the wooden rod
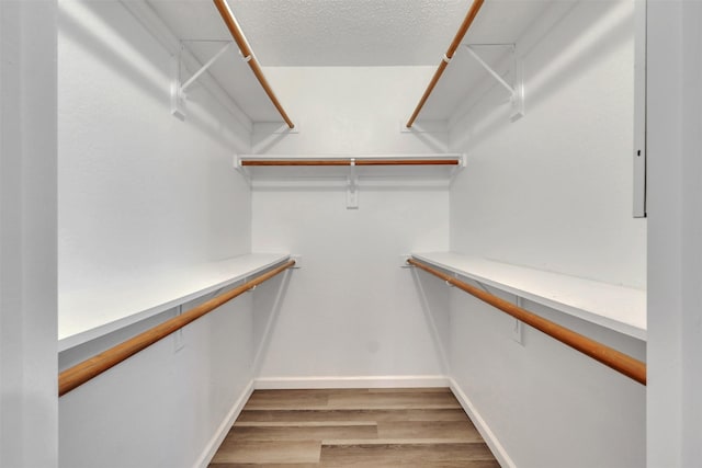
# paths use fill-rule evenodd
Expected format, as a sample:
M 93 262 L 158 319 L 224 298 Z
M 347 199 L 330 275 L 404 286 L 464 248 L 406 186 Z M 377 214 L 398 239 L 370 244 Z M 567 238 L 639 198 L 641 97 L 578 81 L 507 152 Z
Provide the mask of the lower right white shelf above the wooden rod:
M 453 252 L 417 260 L 616 332 L 646 340 L 646 292 Z

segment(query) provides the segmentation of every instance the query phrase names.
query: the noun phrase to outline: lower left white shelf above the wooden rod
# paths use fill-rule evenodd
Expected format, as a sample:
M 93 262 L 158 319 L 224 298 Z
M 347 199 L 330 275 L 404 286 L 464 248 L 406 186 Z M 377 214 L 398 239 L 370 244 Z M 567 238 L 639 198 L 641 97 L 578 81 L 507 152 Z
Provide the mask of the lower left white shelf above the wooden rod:
M 251 253 L 152 277 L 59 292 L 58 351 L 105 335 L 278 265 L 288 254 Z

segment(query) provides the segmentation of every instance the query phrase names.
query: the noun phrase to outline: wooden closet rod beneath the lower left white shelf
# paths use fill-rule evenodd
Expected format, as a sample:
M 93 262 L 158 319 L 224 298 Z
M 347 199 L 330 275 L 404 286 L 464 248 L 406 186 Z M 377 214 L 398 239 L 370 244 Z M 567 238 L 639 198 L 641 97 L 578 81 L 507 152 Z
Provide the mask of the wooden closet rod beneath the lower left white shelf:
M 76 364 L 58 375 L 58 396 L 61 397 L 75 388 L 83 385 L 88 380 L 99 376 L 105 370 L 116 366 L 117 364 L 134 356 L 139 351 L 150 346 L 157 341 L 168 336 L 169 334 L 182 329 L 186 324 L 197 320 L 199 318 L 210 313 L 217 307 L 234 299 L 237 296 L 252 289 L 257 285 L 263 283 L 267 279 L 272 278 L 279 273 L 284 272 L 295 264 L 294 260 L 278 266 L 270 272 L 263 273 L 256 278 L 237 286 L 224 294 L 220 294 L 206 303 L 194 307 L 186 312 L 181 313 L 178 317 L 173 317 L 160 323 L 143 333 L 137 334 L 129 340 L 126 340 L 116 346 L 113 346 L 93 357 L 83 361 L 80 364 Z

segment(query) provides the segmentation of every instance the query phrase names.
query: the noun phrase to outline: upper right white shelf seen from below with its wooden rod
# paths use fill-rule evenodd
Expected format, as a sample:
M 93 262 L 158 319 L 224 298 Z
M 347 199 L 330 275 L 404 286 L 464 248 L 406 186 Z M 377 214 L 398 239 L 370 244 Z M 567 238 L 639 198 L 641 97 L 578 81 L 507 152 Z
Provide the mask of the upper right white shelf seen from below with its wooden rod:
M 444 56 L 448 61 L 441 59 L 426 99 L 422 96 L 416 109 L 417 122 L 450 119 L 466 101 L 485 92 L 486 83 L 497 83 L 466 49 L 467 45 L 475 46 L 476 54 L 510 85 L 518 84 L 513 58 L 519 54 L 514 54 L 513 46 L 535 25 L 553 24 L 573 4 L 574 0 L 474 0 L 472 9 L 478 11 L 465 35 L 461 28 L 456 33 Z M 471 20 L 471 11 L 462 25 Z

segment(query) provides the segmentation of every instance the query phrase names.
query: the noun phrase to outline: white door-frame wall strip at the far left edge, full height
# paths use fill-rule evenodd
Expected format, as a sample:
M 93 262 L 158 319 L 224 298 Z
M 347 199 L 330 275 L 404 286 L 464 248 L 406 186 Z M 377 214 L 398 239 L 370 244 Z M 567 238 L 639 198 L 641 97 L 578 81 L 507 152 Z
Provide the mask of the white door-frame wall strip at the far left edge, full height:
M 56 467 L 56 2 L 0 2 L 0 467 Z

